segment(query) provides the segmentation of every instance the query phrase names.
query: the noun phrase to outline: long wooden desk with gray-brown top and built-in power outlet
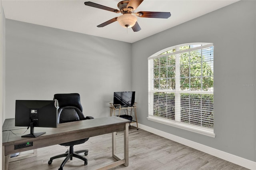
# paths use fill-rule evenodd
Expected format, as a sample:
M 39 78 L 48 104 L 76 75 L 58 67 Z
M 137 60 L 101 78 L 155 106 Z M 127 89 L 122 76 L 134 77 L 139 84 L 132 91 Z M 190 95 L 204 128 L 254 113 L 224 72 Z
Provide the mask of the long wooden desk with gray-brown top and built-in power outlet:
M 88 119 L 84 121 L 61 123 L 58 124 L 57 128 L 35 127 L 35 132 L 46 132 L 45 134 L 36 138 L 21 137 L 22 134 L 15 135 L 10 132 L 10 130 L 3 131 L 2 170 L 8 170 L 10 154 L 107 133 L 112 133 L 112 156 L 118 161 L 103 166 L 100 169 L 110 169 L 121 164 L 128 166 L 129 122 L 130 121 L 120 117 L 104 117 L 98 119 Z M 6 127 L 3 127 L 3 129 L 6 129 Z M 116 132 L 118 131 L 124 131 L 124 158 L 120 158 L 116 155 Z M 14 149 L 15 144 L 22 144 L 26 142 L 33 142 L 33 146 L 16 150 Z

